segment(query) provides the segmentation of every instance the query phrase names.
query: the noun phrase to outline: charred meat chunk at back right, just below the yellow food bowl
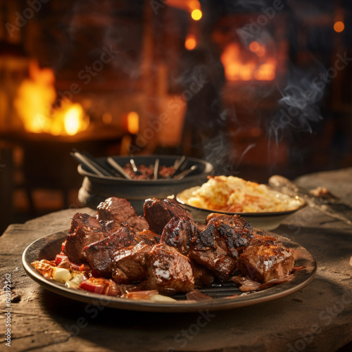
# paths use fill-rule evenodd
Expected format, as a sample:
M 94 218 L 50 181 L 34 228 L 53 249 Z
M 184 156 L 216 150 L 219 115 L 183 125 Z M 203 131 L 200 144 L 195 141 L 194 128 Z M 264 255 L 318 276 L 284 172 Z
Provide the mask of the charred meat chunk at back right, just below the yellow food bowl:
M 211 213 L 206 218 L 206 224 L 213 224 L 225 237 L 231 237 L 232 244 L 235 248 L 248 246 L 253 238 L 253 228 L 251 224 L 240 215 Z M 232 244 L 230 244 L 230 246 L 232 246 Z

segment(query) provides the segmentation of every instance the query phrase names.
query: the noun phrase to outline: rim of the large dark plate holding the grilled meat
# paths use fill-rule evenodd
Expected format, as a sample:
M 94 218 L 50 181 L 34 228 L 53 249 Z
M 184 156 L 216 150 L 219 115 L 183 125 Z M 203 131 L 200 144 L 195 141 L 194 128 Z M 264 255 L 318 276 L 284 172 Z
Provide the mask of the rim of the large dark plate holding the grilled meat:
M 81 301 L 84 303 L 99 303 L 99 305 L 101 306 L 106 306 L 110 308 L 117 308 L 123 310 L 138 310 L 141 312 L 155 313 L 190 313 L 198 312 L 199 310 L 213 311 L 253 306 L 259 303 L 274 301 L 276 299 L 294 294 L 296 291 L 303 289 L 303 287 L 306 287 L 308 284 L 310 284 L 310 282 L 312 282 L 317 272 L 317 263 L 314 256 L 307 249 L 305 249 L 298 243 L 292 241 L 291 239 L 283 237 L 279 234 L 274 234 L 265 230 L 258 231 L 273 234 L 275 235 L 275 237 L 278 237 L 280 241 L 283 241 L 284 239 L 284 241 L 287 241 L 289 244 L 297 246 L 298 249 L 300 249 L 301 251 L 303 250 L 307 258 L 310 259 L 309 263 L 310 265 L 312 265 L 313 268 L 310 270 L 310 272 L 306 272 L 306 270 L 304 270 L 304 272 L 298 270 L 298 272 L 294 273 L 295 277 L 289 282 L 284 282 L 274 287 L 270 287 L 262 291 L 256 291 L 250 294 L 246 294 L 244 296 L 240 295 L 237 298 L 213 298 L 209 301 L 156 302 L 146 300 L 132 300 L 128 298 L 118 298 L 113 296 L 103 296 L 101 294 L 93 294 L 78 289 L 69 289 L 68 287 L 65 287 L 64 284 L 61 284 L 51 279 L 46 279 L 44 276 L 39 274 L 39 272 L 37 272 L 37 270 L 35 270 L 32 265 L 30 265 L 29 256 L 33 253 L 39 254 L 39 249 L 37 249 L 37 252 L 35 252 L 37 245 L 42 244 L 47 239 L 51 239 L 52 241 L 54 241 L 53 237 L 58 237 L 55 239 L 56 241 L 58 241 L 61 237 L 62 239 L 65 239 L 68 230 L 61 230 L 58 232 L 53 232 L 51 234 L 46 234 L 45 236 L 40 237 L 35 241 L 32 241 L 32 243 L 27 246 L 25 251 L 23 251 L 22 263 L 25 272 L 27 272 L 27 275 L 29 275 L 30 278 L 34 280 L 34 282 L 37 282 L 40 286 L 44 287 L 45 289 L 48 289 L 49 291 L 52 291 L 60 296 L 64 296 L 65 298 L 70 298 L 75 301 Z M 52 241 L 51 244 L 53 243 Z M 305 274 L 306 278 L 299 280 L 299 278 L 302 277 L 303 274 Z M 292 286 L 292 282 L 294 282 L 295 279 L 298 279 L 298 284 Z M 285 287 L 288 288 L 284 289 Z M 273 293 L 265 294 L 269 290 Z

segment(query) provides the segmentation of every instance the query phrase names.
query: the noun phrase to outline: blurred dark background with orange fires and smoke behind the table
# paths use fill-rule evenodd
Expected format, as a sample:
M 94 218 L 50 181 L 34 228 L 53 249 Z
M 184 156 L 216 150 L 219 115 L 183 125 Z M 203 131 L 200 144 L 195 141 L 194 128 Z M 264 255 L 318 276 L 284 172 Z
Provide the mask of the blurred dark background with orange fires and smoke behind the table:
M 6 222 L 80 206 L 72 148 L 196 156 L 218 174 L 258 182 L 351 165 L 351 8 L 2 1 Z

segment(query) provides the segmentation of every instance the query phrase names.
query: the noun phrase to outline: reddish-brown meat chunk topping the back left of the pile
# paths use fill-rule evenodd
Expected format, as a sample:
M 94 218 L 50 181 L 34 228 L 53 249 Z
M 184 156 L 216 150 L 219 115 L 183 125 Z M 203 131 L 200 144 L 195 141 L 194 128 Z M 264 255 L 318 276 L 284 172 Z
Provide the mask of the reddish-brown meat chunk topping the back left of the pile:
M 146 220 L 137 216 L 134 208 L 127 199 L 111 197 L 99 204 L 99 220 L 116 220 L 118 223 L 127 223 L 135 231 L 148 230 L 149 225 Z

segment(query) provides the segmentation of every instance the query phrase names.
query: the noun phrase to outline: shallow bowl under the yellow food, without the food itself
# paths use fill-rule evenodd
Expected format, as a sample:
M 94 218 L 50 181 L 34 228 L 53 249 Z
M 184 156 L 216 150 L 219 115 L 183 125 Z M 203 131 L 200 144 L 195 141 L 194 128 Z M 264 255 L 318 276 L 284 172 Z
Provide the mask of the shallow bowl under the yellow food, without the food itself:
M 191 206 L 188 203 L 188 200 L 191 198 L 192 194 L 194 191 L 199 189 L 200 187 L 191 187 L 189 189 L 184 189 L 184 191 L 180 192 L 176 196 L 176 200 L 182 204 L 184 208 L 189 210 L 191 215 L 193 216 L 194 220 L 196 222 L 205 222 L 206 217 L 210 213 L 222 213 L 222 214 L 230 214 L 230 215 L 241 215 L 246 220 L 249 220 L 251 222 L 251 225 L 253 227 L 256 227 L 258 229 L 262 230 L 275 230 L 277 227 L 279 227 L 280 223 L 286 219 L 289 215 L 292 213 L 295 213 L 297 210 L 303 208 L 306 206 L 305 201 L 301 198 L 290 198 L 290 204 L 294 207 L 290 210 L 284 210 L 284 211 L 275 211 L 275 212 L 268 212 L 268 213 L 232 213 L 232 212 L 226 212 L 226 211 L 221 211 L 221 210 L 215 210 L 215 209 L 205 209 L 205 208 L 198 208 L 195 206 Z M 286 194 L 282 194 L 280 192 L 277 192 L 277 197 L 282 199 L 287 199 Z

